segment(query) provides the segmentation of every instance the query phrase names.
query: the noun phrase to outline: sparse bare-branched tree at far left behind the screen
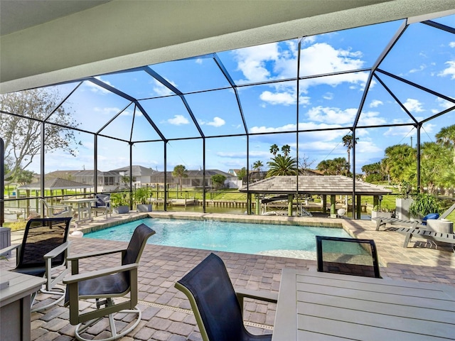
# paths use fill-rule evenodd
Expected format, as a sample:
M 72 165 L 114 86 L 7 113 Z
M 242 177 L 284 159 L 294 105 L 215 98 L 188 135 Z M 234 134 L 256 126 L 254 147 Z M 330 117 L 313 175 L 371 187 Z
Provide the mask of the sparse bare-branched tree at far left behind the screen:
M 33 89 L 0 95 L 0 109 L 11 114 L 0 114 L 0 131 L 5 142 L 5 162 L 15 178 L 21 170 L 41 153 L 41 121 L 49 114 L 53 123 L 44 124 L 44 152 L 63 150 L 76 156 L 75 131 L 63 126 L 77 127 L 73 114 L 58 107 L 58 92 Z M 55 109 L 57 108 L 57 109 Z M 28 117 L 30 119 L 24 119 Z

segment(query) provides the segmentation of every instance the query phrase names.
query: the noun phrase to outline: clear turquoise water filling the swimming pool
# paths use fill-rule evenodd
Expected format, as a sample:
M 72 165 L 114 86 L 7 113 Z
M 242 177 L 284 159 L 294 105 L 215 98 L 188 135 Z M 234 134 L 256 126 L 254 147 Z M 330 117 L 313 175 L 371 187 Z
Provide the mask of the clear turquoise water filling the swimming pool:
M 158 218 L 136 220 L 84 237 L 128 242 L 141 223 L 156 232 L 149 244 L 303 259 L 316 259 L 316 235 L 350 237 L 337 228 Z

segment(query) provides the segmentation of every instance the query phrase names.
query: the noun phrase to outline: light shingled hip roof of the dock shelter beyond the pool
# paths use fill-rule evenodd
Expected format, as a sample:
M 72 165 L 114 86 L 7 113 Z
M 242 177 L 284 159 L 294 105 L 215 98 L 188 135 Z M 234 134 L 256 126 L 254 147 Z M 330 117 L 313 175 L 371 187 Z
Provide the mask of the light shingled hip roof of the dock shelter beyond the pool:
M 272 176 L 249 185 L 250 193 L 291 194 L 296 193 L 294 175 Z M 247 187 L 240 188 L 247 192 Z M 355 193 L 358 195 L 387 195 L 392 190 L 355 180 Z M 352 195 L 353 179 L 343 175 L 299 175 L 299 194 Z

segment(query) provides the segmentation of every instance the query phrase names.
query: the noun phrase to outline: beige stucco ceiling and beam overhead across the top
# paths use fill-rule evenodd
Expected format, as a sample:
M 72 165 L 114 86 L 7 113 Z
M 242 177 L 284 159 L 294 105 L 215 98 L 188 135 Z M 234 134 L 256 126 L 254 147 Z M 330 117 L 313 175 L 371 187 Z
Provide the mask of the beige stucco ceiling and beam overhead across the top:
M 454 9 L 455 0 L 2 0 L 0 92 Z

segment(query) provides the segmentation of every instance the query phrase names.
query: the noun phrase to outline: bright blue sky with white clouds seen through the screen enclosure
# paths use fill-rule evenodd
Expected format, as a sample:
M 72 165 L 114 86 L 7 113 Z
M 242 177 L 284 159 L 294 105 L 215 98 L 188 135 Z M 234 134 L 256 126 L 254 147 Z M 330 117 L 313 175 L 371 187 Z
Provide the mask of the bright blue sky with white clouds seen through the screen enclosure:
M 434 21 L 455 27 L 455 16 L 435 18 Z M 205 141 L 207 169 L 228 171 L 247 166 L 247 162 L 251 166 L 255 161 L 266 165 L 271 157 L 269 147 L 272 144 L 280 147 L 289 144 L 292 156 L 296 156 L 298 148 L 299 157 L 312 161 L 312 168 L 316 168 L 322 160 L 347 157 L 341 138 L 350 132 L 348 128 L 353 125 L 370 74 L 368 70 L 353 71 L 372 67 L 402 23 L 393 21 L 304 37 L 301 41 L 299 77 L 306 78 L 299 80 L 298 90 L 295 80 L 256 84 L 297 77 L 299 39 L 217 53 L 235 84 L 242 85 L 237 92 L 249 133 L 268 133 L 250 136 L 249 161 L 246 136 L 210 138 L 245 134 L 235 92 L 210 55 L 149 67 L 185 94 L 200 129 L 208 137 Z M 454 99 L 455 35 L 423 23 L 413 23 L 379 68 Z M 333 72 L 346 73 L 331 75 Z M 418 121 L 454 106 L 444 98 L 395 80 L 387 73 L 378 72 L 378 75 L 380 80 L 373 78 L 369 85 L 358 121 L 359 127 L 378 127 L 360 128 L 355 132 L 359 138 L 355 154 L 357 172 L 365 164 L 380 161 L 387 146 L 411 142 L 415 146 L 417 141 L 416 130 L 412 126 L 385 126 L 412 121 L 387 89 Z M 181 98 L 146 72 L 122 72 L 97 76 L 97 79 L 139 99 L 166 139 L 200 136 Z M 74 87 L 75 83 L 56 88 L 65 96 Z M 213 89 L 221 90 L 208 91 Z M 159 134 L 134 104 L 92 82 L 83 82 L 63 105 L 68 112 L 74 113 L 80 129 L 91 132 L 102 129 L 102 134 L 124 140 L 160 140 Z M 134 129 L 131 130 L 133 119 Z M 434 141 L 434 134 L 450 124 L 455 124 L 454 111 L 428 121 L 423 125 L 422 142 Z M 302 130 L 298 146 L 297 126 Z M 327 130 L 335 128 L 345 129 Z M 277 131 L 283 134 L 271 134 Z M 77 139 L 82 141 L 77 158 L 63 152 L 50 153 L 46 156 L 46 173 L 93 168 L 92 134 L 78 133 Z M 163 142 L 136 143 L 132 151 L 134 164 L 164 170 Z M 202 139 L 169 141 L 168 171 L 178 164 L 187 169 L 201 168 L 202 151 Z M 103 137 L 98 139 L 100 171 L 128 164 L 127 143 Z M 39 171 L 38 165 L 32 168 Z

